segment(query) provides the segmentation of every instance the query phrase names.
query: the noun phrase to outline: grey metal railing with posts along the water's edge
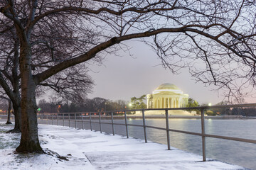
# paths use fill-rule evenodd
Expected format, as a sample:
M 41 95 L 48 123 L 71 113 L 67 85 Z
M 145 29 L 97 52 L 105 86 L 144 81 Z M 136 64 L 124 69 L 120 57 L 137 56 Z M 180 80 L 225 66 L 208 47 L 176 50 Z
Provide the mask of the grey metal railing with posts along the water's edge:
M 48 121 L 51 121 L 51 124 L 53 125 L 53 120 L 57 122 L 57 125 L 60 125 L 59 121 L 62 120 L 62 125 L 65 126 L 65 120 L 68 120 L 68 126 L 70 127 L 70 122 L 75 123 L 75 128 L 77 128 L 77 123 L 82 123 L 82 129 L 84 129 L 84 123 L 89 122 L 90 123 L 90 130 L 92 130 L 92 123 L 99 124 L 100 132 L 102 133 L 102 124 L 108 124 L 112 125 L 112 134 L 114 135 L 114 125 L 124 125 L 125 126 L 125 132 L 127 138 L 129 138 L 129 126 L 137 126 L 142 127 L 144 131 L 144 140 L 147 142 L 146 137 L 146 129 L 147 128 L 153 128 L 157 130 L 165 130 L 166 131 L 166 138 L 167 138 L 167 149 L 171 149 L 170 145 L 170 132 L 178 132 L 188 135 L 197 135 L 202 137 L 202 154 L 203 154 L 203 162 L 206 162 L 206 137 L 213 137 L 223 140 L 234 140 L 239 142 L 248 142 L 256 144 L 256 140 L 249 140 L 245 138 L 239 138 L 239 137 L 228 137 L 228 136 L 222 136 L 222 135 L 210 135 L 206 134 L 206 128 L 205 128 L 205 111 L 207 109 L 211 108 L 247 108 L 247 107 L 255 107 L 256 103 L 250 103 L 250 104 L 241 104 L 241 105 L 225 105 L 225 106 L 202 106 L 202 107 L 193 107 L 193 108 L 151 108 L 151 109 L 138 109 L 138 110 L 124 110 L 124 111 L 106 111 L 106 112 L 83 112 L 83 113 L 38 113 L 38 123 L 43 123 L 44 120 L 46 120 L 46 123 L 48 124 Z M 201 118 L 201 132 L 189 132 L 185 130 L 175 130 L 169 128 L 169 118 L 174 117 L 173 115 L 169 115 L 168 111 L 176 111 L 176 110 L 198 110 L 201 112 L 200 116 L 181 116 L 178 118 Z M 127 113 L 135 112 L 135 111 L 141 111 L 142 116 L 134 116 L 134 115 L 127 115 Z M 145 111 L 164 111 L 164 116 L 159 116 L 161 118 L 165 118 L 166 120 L 166 128 L 146 125 L 146 118 L 149 118 L 150 116 L 145 116 Z M 122 113 L 123 115 L 114 115 L 114 113 Z M 104 115 L 105 119 L 111 119 L 111 123 L 108 122 L 102 122 L 102 116 Z M 216 116 L 216 118 L 222 118 L 220 116 Z M 120 119 L 124 118 L 124 123 L 114 123 L 114 118 Z M 142 118 L 142 125 L 136 125 L 136 124 L 129 124 L 127 123 L 127 118 Z M 152 117 L 155 118 L 155 117 Z M 213 117 L 209 117 L 213 118 Z M 94 121 L 98 120 L 98 121 Z

